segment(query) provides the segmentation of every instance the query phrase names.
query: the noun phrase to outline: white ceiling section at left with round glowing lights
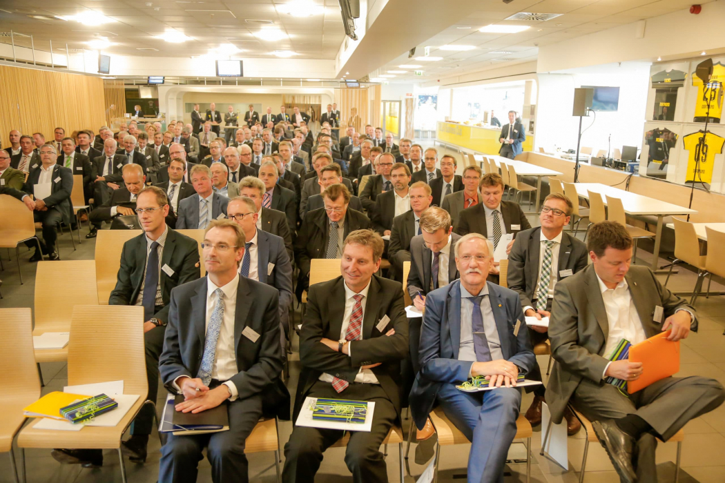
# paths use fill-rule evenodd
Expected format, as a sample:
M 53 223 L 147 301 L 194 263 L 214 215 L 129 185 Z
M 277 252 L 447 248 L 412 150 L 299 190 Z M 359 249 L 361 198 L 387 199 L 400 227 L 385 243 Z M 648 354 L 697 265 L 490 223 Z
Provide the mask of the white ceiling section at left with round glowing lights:
M 0 31 L 33 35 L 36 49 L 88 49 L 87 41 L 107 37 L 115 45 L 104 53 L 144 56 L 198 56 L 208 54 L 221 43 L 233 43 L 244 57 L 270 56 L 276 50 L 297 52 L 295 59 L 334 59 L 344 38 L 337 0 L 312 0 L 324 7 L 312 17 L 293 17 L 277 7 L 291 0 L 2 0 Z M 150 4 L 151 6 L 147 6 Z M 155 9 L 159 9 L 158 11 Z M 54 17 L 78 14 L 92 9 L 115 22 L 82 25 L 65 20 L 38 20 L 28 15 Z M 268 20 L 273 25 L 250 23 Z M 262 28 L 279 28 L 288 35 L 281 41 L 260 41 L 254 33 Z M 184 43 L 167 43 L 155 38 L 168 30 L 178 30 L 192 38 Z M 0 37 L 9 43 L 9 39 Z M 30 46 L 29 38 L 16 43 Z M 140 51 L 140 48 L 158 51 Z

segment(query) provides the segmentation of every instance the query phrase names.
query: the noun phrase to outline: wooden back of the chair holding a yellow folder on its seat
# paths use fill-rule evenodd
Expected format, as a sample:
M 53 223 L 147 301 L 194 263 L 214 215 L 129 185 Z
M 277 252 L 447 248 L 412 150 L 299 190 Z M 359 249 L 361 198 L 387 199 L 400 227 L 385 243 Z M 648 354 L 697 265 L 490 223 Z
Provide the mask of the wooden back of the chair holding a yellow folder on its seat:
M 75 306 L 68 342 L 68 385 L 123 379 L 124 394 L 149 392 L 141 306 Z

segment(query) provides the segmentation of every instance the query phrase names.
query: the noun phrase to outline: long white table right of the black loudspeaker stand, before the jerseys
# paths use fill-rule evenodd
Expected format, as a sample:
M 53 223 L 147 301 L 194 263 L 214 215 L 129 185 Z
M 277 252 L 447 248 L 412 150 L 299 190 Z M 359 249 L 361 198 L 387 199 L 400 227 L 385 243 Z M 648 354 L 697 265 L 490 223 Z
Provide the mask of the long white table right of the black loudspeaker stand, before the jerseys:
M 674 205 L 661 201 L 649 196 L 638 195 L 631 191 L 621 190 L 613 186 L 602 185 L 598 182 L 578 182 L 576 183 L 576 194 L 581 198 L 589 199 L 589 191 L 600 193 L 602 201 L 607 206 L 607 196 L 612 198 L 620 198 L 624 206 L 624 212 L 631 215 L 650 215 L 657 217 L 657 230 L 655 230 L 655 250 L 652 257 L 653 272 L 657 271 L 657 264 L 660 256 L 660 243 L 662 242 L 663 218 L 676 214 L 694 214 L 697 210 L 685 208 L 684 206 Z M 576 200 L 572 200 L 576 203 Z

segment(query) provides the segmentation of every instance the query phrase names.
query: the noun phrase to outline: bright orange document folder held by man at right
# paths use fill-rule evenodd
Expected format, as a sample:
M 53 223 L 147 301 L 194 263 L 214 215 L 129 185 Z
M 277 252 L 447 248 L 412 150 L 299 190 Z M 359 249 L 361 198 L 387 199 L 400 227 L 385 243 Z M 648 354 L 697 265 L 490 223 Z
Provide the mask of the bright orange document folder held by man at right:
M 629 361 L 642 363 L 639 379 L 627 382 L 629 394 L 679 372 L 679 340 L 667 340 L 670 332 L 662 332 L 629 348 Z

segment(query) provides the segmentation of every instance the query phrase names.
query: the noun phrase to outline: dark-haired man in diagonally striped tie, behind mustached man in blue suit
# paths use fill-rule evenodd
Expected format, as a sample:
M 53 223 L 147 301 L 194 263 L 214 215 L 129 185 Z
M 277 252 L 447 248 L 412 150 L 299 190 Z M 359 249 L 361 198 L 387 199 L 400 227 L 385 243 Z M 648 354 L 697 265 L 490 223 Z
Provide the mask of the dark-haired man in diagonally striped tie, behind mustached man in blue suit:
M 516 233 L 529 230 L 531 224 L 518 203 L 501 201 L 503 190 L 501 175 L 487 173 L 481 177 L 479 191 L 483 204 L 461 211 L 458 215 L 458 224 L 453 227 L 453 231 L 461 236 L 480 233 L 494 244 L 494 251 L 500 249 L 500 243 L 505 243 L 508 253 L 513 246 Z M 494 261 L 489 267 L 491 269 L 489 280 L 498 283 L 498 261 Z

